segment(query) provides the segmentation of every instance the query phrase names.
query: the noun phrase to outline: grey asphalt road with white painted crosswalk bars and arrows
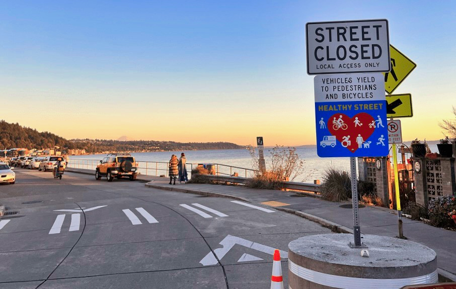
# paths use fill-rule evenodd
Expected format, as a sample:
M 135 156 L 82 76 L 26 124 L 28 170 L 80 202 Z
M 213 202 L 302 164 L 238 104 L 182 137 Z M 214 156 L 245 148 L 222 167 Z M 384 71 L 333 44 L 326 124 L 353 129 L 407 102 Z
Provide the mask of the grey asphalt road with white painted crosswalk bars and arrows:
M 328 233 L 287 213 L 140 181 L 16 170 L 0 202 L 0 287 L 267 288 L 272 250 Z M 199 212 L 198 212 L 199 210 Z M 214 250 L 216 256 L 214 255 Z

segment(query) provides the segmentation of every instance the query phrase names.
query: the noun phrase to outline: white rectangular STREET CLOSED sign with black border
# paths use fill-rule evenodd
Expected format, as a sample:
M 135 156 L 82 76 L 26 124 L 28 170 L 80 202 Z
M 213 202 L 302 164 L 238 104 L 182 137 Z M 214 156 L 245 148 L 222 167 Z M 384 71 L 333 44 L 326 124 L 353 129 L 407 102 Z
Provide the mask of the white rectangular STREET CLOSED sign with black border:
M 307 73 L 387 72 L 391 68 L 388 20 L 309 22 Z

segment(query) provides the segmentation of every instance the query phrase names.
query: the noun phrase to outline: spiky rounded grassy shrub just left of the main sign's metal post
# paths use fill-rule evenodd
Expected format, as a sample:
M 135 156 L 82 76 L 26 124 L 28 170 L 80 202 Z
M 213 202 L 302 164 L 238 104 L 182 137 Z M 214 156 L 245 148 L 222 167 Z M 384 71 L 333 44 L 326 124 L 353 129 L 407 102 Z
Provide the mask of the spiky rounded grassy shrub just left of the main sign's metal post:
M 346 171 L 329 168 L 323 177 L 322 198 L 331 202 L 341 202 L 351 197 L 351 178 Z

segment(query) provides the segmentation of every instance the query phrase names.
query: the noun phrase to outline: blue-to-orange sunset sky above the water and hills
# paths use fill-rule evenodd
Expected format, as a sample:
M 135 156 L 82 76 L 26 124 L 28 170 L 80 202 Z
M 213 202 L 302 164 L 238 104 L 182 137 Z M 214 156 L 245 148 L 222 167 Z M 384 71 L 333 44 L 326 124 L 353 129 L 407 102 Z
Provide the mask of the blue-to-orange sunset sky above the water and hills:
M 315 144 L 315 21 L 389 20 L 417 63 L 394 92 L 412 94 L 404 140 L 454 119 L 453 1 L 10 1 L 0 18 L 0 119 L 69 139 Z

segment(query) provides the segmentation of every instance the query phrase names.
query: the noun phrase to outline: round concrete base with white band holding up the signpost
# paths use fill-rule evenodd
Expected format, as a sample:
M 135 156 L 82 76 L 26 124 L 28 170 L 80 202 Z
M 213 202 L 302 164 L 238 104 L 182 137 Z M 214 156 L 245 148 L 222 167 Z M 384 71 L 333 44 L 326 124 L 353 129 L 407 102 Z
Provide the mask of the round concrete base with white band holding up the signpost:
M 369 257 L 350 248 L 351 234 L 302 237 L 288 245 L 288 283 L 292 289 L 397 289 L 436 283 L 435 252 L 397 238 L 363 235 Z

